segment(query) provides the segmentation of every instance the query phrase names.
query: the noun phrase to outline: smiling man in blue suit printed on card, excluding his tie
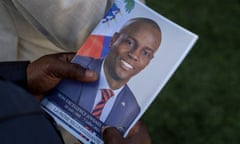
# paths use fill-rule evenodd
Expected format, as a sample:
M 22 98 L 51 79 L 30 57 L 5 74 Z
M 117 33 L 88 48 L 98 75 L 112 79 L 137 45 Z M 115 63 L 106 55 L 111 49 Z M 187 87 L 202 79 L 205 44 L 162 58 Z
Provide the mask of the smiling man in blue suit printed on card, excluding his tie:
M 73 63 L 98 72 L 98 81 L 64 80 L 58 91 L 91 113 L 101 100 L 100 89 L 111 89 L 114 96 L 105 104 L 99 119 L 125 132 L 140 113 L 127 82 L 149 64 L 160 43 L 161 30 L 157 23 L 147 18 L 131 19 L 113 35 L 109 54 L 104 59 L 74 57 Z

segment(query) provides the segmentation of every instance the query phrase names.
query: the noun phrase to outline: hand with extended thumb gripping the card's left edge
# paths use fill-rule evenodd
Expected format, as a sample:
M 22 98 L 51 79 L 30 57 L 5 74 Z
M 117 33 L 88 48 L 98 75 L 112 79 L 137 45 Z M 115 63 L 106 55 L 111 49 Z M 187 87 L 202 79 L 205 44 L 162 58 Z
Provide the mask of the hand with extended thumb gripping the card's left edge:
M 54 88 L 61 79 L 70 78 L 83 82 L 97 80 L 97 73 L 71 63 L 75 53 L 46 55 L 27 67 L 28 89 L 33 94 L 44 94 Z

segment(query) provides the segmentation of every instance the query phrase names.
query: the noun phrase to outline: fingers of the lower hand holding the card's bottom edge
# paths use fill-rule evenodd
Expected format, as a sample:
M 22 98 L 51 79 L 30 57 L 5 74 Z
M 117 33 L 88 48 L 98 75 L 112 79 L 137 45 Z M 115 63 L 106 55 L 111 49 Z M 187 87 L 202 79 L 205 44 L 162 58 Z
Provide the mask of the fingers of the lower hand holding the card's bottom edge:
M 138 121 L 130 130 L 126 138 L 114 127 L 106 128 L 103 131 L 103 139 L 105 144 L 150 144 L 146 125 L 142 121 Z

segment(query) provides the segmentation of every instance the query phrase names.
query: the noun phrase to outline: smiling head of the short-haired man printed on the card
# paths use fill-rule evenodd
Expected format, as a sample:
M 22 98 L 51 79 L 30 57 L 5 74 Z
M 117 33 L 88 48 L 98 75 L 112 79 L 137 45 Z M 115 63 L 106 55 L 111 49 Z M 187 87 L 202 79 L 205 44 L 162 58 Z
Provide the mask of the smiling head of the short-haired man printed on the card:
M 127 83 L 149 64 L 160 43 L 161 30 L 156 22 L 147 18 L 129 20 L 110 42 L 104 65 L 108 82 L 118 82 L 119 86 Z

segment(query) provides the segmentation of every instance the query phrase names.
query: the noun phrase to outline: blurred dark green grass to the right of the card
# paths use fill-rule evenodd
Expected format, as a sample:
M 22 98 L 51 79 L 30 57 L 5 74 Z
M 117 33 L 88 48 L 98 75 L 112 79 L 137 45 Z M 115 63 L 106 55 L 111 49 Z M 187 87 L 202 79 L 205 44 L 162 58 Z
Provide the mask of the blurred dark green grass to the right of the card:
M 240 143 L 240 1 L 147 0 L 199 35 L 143 118 L 153 144 Z

